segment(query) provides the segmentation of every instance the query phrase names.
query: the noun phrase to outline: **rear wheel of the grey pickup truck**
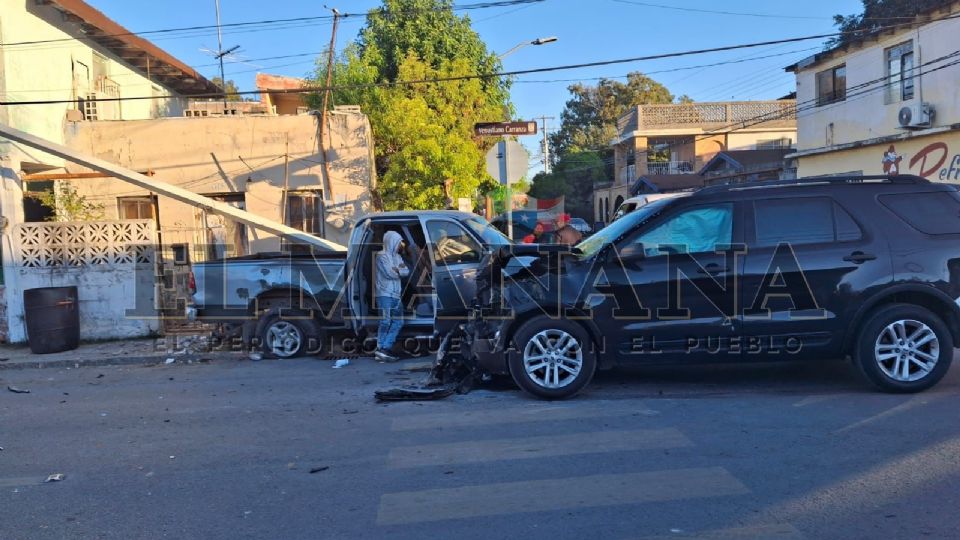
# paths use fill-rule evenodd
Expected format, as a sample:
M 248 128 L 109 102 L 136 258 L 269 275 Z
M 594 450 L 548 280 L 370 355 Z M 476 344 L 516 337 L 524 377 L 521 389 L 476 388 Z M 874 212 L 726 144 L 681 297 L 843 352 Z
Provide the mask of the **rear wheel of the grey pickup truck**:
M 296 358 L 321 350 L 320 326 L 299 311 L 271 309 L 260 317 L 256 335 L 267 358 Z

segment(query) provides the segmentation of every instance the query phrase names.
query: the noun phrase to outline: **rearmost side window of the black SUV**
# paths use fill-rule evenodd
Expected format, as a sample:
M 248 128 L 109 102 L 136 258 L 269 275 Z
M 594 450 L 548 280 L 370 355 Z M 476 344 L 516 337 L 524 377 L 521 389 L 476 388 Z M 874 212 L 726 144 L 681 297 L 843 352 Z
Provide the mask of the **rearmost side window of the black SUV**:
M 924 234 L 960 234 L 960 194 L 956 192 L 881 195 L 880 202 Z

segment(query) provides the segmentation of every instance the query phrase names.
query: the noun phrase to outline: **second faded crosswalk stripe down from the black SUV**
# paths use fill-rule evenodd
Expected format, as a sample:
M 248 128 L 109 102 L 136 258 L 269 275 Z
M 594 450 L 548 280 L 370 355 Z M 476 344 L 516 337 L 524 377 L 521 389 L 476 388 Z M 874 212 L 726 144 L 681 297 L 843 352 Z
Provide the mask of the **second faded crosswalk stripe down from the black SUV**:
M 387 463 L 392 468 L 482 463 L 508 459 L 535 459 L 599 452 L 625 452 L 691 446 L 676 429 L 599 431 L 425 444 L 394 448 Z

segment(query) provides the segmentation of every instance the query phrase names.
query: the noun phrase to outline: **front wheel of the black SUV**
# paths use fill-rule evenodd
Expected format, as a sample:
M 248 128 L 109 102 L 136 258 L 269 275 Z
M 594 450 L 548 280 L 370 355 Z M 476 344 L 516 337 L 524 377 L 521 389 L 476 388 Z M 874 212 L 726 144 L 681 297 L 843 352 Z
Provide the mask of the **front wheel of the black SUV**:
M 579 324 L 537 317 L 512 340 L 508 365 L 517 386 L 541 399 L 566 399 L 590 383 L 597 368 L 593 342 Z

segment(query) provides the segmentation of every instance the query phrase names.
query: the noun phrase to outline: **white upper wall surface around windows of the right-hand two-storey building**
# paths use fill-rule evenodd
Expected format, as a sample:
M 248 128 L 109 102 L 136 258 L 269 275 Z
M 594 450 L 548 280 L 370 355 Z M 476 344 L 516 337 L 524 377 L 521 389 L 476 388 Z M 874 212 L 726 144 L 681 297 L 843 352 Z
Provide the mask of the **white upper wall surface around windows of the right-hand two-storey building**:
M 954 4 L 954 13 L 960 12 L 960 3 Z M 946 16 L 934 14 L 935 18 Z M 914 66 L 953 53 L 960 46 L 960 19 L 939 21 L 919 29 L 884 36 L 865 48 L 851 49 L 847 54 L 829 62 L 803 69 L 797 75 L 798 150 L 809 150 L 832 144 L 842 145 L 856 141 L 902 133 L 897 122 L 900 108 L 923 101 L 936 109 L 934 127 L 960 123 L 960 64 L 930 71 L 956 60 L 956 57 L 923 67 L 915 86 L 913 100 L 886 103 L 884 85 L 872 83 L 862 89 L 858 85 L 885 77 L 885 49 L 913 40 Z M 816 74 L 828 68 L 846 64 L 847 99 L 838 103 L 814 107 L 816 103 Z M 914 73 L 918 73 L 915 71 Z M 866 92 L 866 90 L 872 90 Z M 854 95 L 857 94 L 857 95 Z M 832 124 L 832 129 L 830 125 Z M 922 133 L 918 133 L 923 136 Z M 810 161 L 812 163 L 812 161 Z M 843 170 L 851 169 L 845 167 Z

